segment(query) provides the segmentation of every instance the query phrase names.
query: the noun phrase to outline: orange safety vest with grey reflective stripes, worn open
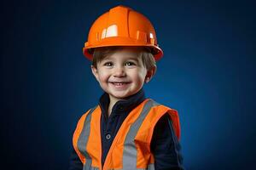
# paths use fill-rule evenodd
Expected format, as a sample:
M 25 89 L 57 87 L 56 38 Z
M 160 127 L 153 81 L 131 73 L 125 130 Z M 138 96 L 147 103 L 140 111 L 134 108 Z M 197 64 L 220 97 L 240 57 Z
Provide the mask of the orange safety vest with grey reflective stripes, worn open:
M 83 170 L 154 169 L 154 155 L 150 151 L 150 142 L 155 124 L 166 113 L 172 119 L 177 139 L 180 139 L 177 111 L 152 99 L 145 99 L 125 118 L 102 166 L 102 111 L 99 105 L 87 111 L 79 119 L 73 134 L 73 147 L 83 162 Z

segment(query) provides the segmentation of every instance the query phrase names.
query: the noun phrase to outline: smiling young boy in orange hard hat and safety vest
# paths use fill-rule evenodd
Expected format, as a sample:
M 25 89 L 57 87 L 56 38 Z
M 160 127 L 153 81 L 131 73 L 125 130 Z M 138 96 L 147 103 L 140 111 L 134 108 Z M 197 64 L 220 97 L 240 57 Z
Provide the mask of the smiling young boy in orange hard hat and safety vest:
M 177 111 L 143 92 L 163 55 L 150 21 L 111 8 L 91 26 L 83 50 L 105 93 L 78 122 L 69 169 L 183 169 Z

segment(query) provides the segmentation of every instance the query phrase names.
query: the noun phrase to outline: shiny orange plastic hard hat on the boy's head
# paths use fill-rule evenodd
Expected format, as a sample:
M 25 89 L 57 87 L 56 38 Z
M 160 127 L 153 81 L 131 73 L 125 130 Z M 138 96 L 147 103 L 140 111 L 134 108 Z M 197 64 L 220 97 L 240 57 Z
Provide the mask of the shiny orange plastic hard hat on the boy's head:
M 111 8 L 93 23 L 83 53 L 91 60 L 94 48 L 109 46 L 148 47 L 155 60 L 163 55 L 150 21 L 143 14 L 125 6 Z

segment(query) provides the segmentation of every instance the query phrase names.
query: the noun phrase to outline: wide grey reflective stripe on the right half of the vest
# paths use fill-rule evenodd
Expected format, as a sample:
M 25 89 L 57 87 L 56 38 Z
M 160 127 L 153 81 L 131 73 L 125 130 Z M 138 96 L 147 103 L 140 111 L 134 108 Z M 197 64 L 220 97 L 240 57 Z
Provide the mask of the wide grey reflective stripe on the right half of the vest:
M 141 127 L 145 117 L 148 115 L 150 109 L 155 106 L 159 105 L 158 103 L 154 102 L 153 100 L 149 99 L 147 103 L 143 107 L 143 111 L 138 116 L 136 122 L 134 122 L 129 132 L 125 137 L 124 143 L 124 151 L 123 151 L 123 170 L 131 170 L 137 169 L 137 148 L 134 143 L 135 136 L 137 135 L 138 129 Z M 149 166 L 149 169 L 154 169 Z

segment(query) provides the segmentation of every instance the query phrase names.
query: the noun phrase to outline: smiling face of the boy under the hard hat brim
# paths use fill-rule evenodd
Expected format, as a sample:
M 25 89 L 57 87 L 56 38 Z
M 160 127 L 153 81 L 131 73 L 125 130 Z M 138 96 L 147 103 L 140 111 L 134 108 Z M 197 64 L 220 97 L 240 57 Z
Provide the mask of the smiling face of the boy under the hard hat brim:
M 137 50 L 131 48 L 108 55 L 97 63 L 97 68 L 91 69 L 102 89 L 115 101 L 136 94 L 143 88 L 148 73 L 142 59 L 137 57 Z

